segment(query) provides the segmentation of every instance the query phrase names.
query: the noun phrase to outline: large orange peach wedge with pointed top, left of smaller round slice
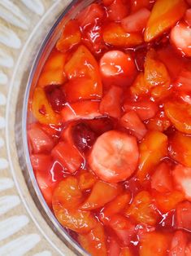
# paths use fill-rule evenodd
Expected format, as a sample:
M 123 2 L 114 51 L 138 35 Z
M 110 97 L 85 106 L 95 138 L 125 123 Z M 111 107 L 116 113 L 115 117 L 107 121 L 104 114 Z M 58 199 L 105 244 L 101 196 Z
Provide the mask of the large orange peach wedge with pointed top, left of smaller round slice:
M 79 46 L 72 55 L 71 59 L 65 64 L 65 73 L 69 80 L 86 77 L 94 85 L 93 94 L 102 97 L 102 81 L 100 78 L 98 63 L 85 46 Z

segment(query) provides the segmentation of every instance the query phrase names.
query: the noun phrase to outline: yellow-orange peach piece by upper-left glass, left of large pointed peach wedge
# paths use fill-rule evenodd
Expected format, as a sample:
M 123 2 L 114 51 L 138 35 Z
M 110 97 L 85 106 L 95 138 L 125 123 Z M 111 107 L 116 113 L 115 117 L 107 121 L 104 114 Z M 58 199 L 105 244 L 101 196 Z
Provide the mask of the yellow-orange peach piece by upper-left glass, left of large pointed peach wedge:
M 66 81 L 66 74 L 64 73 L 65 62 L 66 55 L 59 51 L 53 51 L 46 60 L 37 86 L 62 85 Z

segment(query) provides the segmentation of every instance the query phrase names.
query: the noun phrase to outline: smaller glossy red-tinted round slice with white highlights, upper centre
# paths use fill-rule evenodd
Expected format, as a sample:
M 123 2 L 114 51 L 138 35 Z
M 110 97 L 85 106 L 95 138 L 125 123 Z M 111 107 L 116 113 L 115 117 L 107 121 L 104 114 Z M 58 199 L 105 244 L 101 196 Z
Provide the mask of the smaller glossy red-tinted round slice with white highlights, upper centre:
M 127 86 L 135 75 L 135 64 L 123 51 L 107 51 L 100 60 L 100 71 L 104 85 Z

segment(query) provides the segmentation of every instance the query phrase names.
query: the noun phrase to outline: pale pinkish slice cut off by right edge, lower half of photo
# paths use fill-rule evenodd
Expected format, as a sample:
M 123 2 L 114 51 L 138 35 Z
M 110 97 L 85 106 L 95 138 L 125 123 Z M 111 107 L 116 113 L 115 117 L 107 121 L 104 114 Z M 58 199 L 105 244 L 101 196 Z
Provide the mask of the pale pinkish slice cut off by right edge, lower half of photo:
M 172 172 L 176 187 L 184 193 L 186 199 L 191 200 L 191 168 L 177 165 Z

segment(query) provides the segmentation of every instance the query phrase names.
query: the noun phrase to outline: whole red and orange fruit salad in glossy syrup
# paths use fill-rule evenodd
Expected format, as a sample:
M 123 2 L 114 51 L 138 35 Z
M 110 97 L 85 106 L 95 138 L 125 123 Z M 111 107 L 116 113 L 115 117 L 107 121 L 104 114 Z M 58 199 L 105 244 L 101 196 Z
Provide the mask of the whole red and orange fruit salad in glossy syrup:
M 28 151 L 93 256 L 191 255 L 191 1 L 102 0 L 64 25 L 28 99 Z

